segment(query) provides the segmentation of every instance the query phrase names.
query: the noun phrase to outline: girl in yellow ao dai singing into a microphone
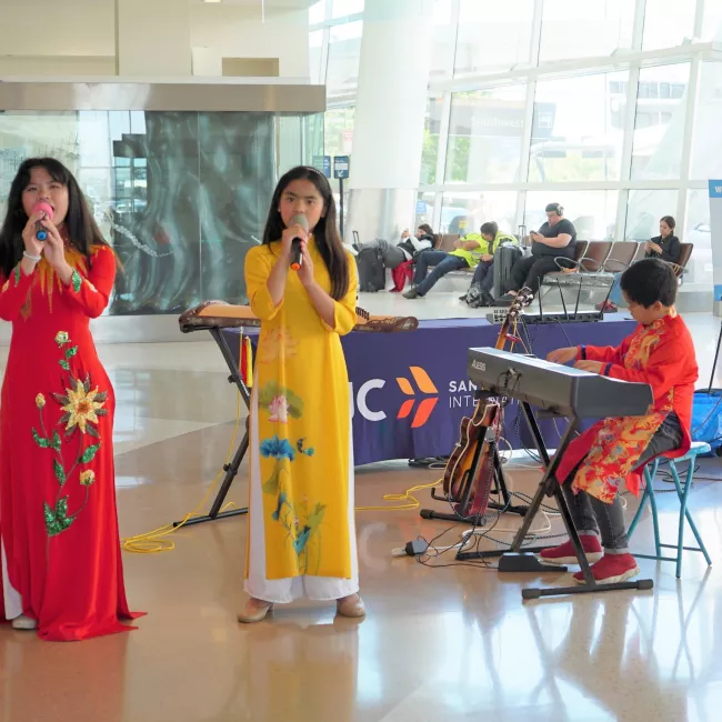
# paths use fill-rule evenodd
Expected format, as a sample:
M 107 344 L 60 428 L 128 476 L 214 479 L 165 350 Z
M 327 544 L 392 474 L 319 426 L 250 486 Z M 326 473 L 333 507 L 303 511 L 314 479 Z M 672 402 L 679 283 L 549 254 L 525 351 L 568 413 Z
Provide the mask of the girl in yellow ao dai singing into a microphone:
M 294 239 L 298 270 L 290 268 Z M 337 600 L 340 614 L 362 616 L 340 340 L 355 324 L 358 277 L 319 171 L 300 167 L 281 178 L 263 244 L 249 251 L 244 270 L 261 334 L 250 412 L 250 599 L 239 621 L 260 621 L 299 596 Z

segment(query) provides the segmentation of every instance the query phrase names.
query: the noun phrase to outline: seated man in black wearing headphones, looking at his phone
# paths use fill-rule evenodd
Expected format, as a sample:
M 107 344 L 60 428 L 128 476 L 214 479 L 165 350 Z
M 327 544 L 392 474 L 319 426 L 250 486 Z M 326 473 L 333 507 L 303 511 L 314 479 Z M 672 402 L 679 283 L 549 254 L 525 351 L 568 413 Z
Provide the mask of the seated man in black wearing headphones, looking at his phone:
M 546 273 L 559 271 L 554 259 L 574 260 L 576 253 L 576 230 L 571 221 L 564 218 L 564 209 L 559 203 L 550 203 L 545 209 L 546 223 L 538 232 L 531 232 L 531 255 L 521 258 L 511 270 L 510 288 L 501 303 L 511 303 L 517 292 L 528 287 L 537 293 L 541 280 Z M 561 261 L 563 264 L 563 261 Z M 571 265 L 571 263 L 570 263 Z

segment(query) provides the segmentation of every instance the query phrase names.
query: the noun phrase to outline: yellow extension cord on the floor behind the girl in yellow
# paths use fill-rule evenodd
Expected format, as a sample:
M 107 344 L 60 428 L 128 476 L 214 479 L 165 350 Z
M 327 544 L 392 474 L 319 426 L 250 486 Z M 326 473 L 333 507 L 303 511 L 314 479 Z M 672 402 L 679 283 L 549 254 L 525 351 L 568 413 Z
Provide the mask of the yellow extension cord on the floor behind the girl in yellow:
M 231 437 L 231 443 L 228 448 L 228 453 L 225 455 L 225 464 L 227 467 L 231 458 L 233 455 L 233 451 L 235 449 L 235 439 L 238 437 L 238 429 L 241 423 L 241 394 L 239 392 L 238 394 L 238 405 L 235 410 L 235 427 L 233 428 L 233 435 Z M 123 545 L 123 549 L 127 552 L 132 552 L 136 554 L 157 554 L 159 552 L 169 552 L 176 549 L 176 543 L 168 539 L 171 534 L 174 534 L 177 531 L 183 528 L 183 525 L 193 517 L 198 517 L 200 514 L 201 509 L 205 507 L 205 503 L 208 502 L 209 497 L 215 489 L 215 485 L 218 484 L 218 481 L 220 480 L 221 475 L 223 474 L 224 469 L 221 469 L 221 471 L 218 472 L 215 479 L 211 482 L 211 484 L 208 488 L 208 491 L 203 495 L 203 499 L 201 499 L 200 503 L 195 509 L 185 517 L 183 517 L 183 520 L 177 525 L 173 527 L 173 524 L 166 524 L 164 527 L 159 527 L 158 529 L 153 529 L 153 531 L 146 532 L 144 534 L 138 534 L 137 537 L 128 537 L 126 539 L 121 539 L 121 543 Z M 395 507 L 355 507 L 355 511 L 395 511 L 395 510 L 403 510 L 403 509 L 417 509 L 420 507 L 419 500 L 413 497 L 414 491 L 419 491 L 420 489 L 431 489 L 432 487 L 438 487 L 443 479 L 437 479 L 433 483 L 430 484 L 420 484 L 418 487 L 412 487 L 411 489 L 408 489 L 403 494 L 384 494 L 383 501 L 400 501 L 403 502 L 405 501 L 407 503 L 399 504 Z M 221 512 L 227 511 L 228 509 L 232 509 L 237 507 L 235 503 L 232 501 L 229 501 L 222 509 Z

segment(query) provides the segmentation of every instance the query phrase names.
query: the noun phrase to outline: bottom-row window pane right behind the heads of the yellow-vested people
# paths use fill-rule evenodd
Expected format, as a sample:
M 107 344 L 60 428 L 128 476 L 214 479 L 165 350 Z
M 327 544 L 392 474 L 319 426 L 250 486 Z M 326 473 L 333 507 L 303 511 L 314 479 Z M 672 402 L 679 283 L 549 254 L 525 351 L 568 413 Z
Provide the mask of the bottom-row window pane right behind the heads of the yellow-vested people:
M 487 221 L 495 221 L 505 233 L 515 232 L 517 191 L 448 191 L 443 194 L 440 233 L 478 233 Z

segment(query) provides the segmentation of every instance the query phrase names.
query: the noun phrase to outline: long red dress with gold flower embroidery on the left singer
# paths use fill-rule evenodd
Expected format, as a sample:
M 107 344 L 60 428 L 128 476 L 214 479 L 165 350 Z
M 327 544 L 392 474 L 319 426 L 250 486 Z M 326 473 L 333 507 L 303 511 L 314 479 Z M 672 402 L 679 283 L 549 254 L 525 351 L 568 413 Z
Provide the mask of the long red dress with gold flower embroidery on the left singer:
M 66 287 L 42 259 L 1 279 L 12 322 L 0 404 L 0 619 L 38 620 L 42 639 L 129 629 L 113 465 L 114 395 L 90 319 L 108 304 L 116 258 L 71 248 Z

